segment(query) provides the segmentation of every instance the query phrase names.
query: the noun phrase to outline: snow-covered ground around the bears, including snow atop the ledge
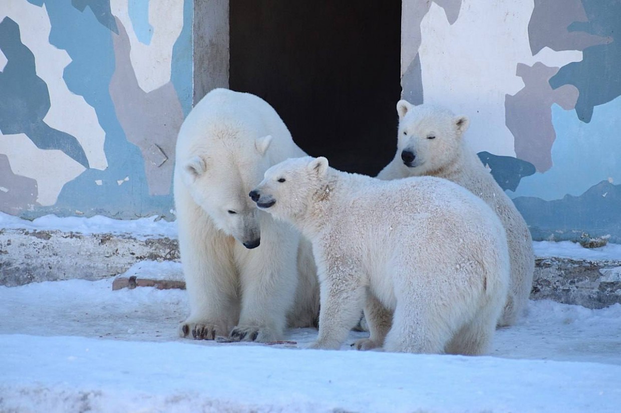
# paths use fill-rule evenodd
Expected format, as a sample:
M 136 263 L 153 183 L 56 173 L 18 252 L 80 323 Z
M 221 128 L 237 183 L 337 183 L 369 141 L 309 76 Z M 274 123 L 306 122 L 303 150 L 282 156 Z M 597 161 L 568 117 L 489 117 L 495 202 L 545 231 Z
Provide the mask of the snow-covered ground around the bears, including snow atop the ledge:
M 174 224 L 146 218 L 131 228 L 101 217 L 56 220 L 0 216 L 0 228 L 175 236 Z M 536 242 L 535 250 L 621 259 L 618 245 Z M 128 274 L 180 270 L 142 262 Z M 314 329 L 288 331 L 296 344 L 180 339 L 187 313 L 186 291 L 112 291 L 112 280 L 0 286 L 0 412 L 621 411 L 620 304 L 531 301 L 486 357 L 351 350 L 363 332 L 351 332 L 341 351 L 302 349 Z

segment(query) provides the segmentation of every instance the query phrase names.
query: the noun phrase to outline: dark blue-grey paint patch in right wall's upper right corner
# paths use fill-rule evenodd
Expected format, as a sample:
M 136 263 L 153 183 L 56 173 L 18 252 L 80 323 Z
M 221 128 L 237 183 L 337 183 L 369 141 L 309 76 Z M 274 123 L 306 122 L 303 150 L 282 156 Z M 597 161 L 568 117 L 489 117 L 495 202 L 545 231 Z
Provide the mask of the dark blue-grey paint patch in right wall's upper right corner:
M 573 22 L 569 32 L 586 32 L 614 41 L 582 51 L 582 61 L 563 66 L 550 79 L 553 89 L 564 84 L 578 87 L 576 113 L 591 122 L 593 107 L 621 95 L 621 1 L 582 0 L 588 22 Z

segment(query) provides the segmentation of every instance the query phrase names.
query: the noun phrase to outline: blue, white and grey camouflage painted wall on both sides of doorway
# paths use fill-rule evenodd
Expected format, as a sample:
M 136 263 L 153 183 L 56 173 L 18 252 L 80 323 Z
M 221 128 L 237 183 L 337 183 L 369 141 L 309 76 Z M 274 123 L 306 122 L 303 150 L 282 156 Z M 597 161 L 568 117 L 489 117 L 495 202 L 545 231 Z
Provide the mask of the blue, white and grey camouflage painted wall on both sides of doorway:
M 176 132 L 226 82 L 227 1 L 194 29 L 193 0 L 0 3 L 0 210 L 171 218 Z M 471 118 L 535 238 L 621 242 L 620 42 L 621 0 L 403 0 L 403 94 Z

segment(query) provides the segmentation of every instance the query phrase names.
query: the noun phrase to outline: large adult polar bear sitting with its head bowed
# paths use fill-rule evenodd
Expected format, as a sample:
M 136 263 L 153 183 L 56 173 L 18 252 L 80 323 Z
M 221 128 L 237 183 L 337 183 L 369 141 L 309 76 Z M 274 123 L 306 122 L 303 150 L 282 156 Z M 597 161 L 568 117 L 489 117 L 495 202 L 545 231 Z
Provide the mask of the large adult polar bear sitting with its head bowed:
M 312 247 L 258 211 L 248 192 L 268 167 L 304 152 L 259 97 L 209 92 L 181 125 L 175 205 L 190 314 L 182 337 L 278 340 L 319 313 Z

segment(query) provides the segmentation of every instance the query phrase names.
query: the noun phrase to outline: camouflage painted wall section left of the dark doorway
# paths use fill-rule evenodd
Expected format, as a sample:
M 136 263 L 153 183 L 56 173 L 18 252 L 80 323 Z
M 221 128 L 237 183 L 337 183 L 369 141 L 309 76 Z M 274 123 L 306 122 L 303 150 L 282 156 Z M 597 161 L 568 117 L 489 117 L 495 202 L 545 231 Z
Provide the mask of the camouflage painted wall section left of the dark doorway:
M 171 216 L 192 13 L 192 0 L 1 2 L 1 211 Z

